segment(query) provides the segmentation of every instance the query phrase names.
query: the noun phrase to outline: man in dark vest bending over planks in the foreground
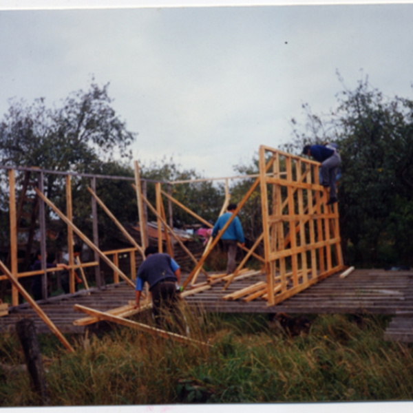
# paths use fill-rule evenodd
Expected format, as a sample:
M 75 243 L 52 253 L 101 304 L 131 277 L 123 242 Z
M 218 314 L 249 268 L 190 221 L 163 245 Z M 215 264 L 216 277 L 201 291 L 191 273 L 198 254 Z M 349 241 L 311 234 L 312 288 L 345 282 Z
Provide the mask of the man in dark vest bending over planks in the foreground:
M 156 324 L 160 325 L 162 311 L 176 313 L 178 310 L 180 266 L 168 254 L 158 253 L 154 246 L 145 249 L 145 257 L 136 275 L 135 308 L 140 307 L 143 284 L 147 282 L 152 295 L 153 315 Z

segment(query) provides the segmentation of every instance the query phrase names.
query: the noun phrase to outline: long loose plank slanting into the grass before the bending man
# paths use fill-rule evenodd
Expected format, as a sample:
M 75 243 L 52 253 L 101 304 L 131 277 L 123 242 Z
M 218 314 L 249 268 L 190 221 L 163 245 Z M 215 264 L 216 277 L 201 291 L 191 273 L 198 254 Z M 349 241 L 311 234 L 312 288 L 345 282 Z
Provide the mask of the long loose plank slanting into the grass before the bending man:
M 101 311 L 94 310 L 92 308 L 87 308 L 85 306 L 81 306 L 79 304 L 74 305 L 74 310 L 76 311 L 81 311 L 83 313 L 92 315 L 94 317 L 97 317 L 98 319 L 103 319 L 106 321 L 111 321 L 112 323 L 120 324 L 121 326 L 129 327 L 129 328 L 134 328 L 135 330 L 142 330 L 145 332 L 149 332 L 151 335 L 157 335 L 159 337 L 162 337 L 164 339 L 172 339 L 174 341 L 178 341 L 180 343 L 189 343 L 189 344 L 195 344 L 197 346 L 208 346 L 210 345 L 208 343 L 203 343 L 202 341 L 190 339 L 189 337 L 184 337 L 182 335 L 178 335 L 174 332 L 168 332 L 165 330 L 160 330 L 160 328 L 154 328 L 151 326 L 147 326 L 146 324 L 138 323 L 136 321 L 131 321 L 127 319 L 123 319 L 122 317 L 118 317 L 116 315 L 110 315 L 107 313 L 102 313 Z

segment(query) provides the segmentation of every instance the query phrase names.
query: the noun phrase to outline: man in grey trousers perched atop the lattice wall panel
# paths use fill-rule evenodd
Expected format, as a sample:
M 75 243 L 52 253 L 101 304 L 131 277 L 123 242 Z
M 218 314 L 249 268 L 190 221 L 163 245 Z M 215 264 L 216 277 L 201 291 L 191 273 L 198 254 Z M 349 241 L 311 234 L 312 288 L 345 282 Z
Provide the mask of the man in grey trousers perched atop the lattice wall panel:
M 321 185 L 330 187 L 330 200 L 327 205 L 337 202 L 336 176 L 340 166 L 341 158 L 336 147 L 332 145 L 306 145 L 303 150 L 304 155 L 313 156 L 315 160 L 321 162 Z

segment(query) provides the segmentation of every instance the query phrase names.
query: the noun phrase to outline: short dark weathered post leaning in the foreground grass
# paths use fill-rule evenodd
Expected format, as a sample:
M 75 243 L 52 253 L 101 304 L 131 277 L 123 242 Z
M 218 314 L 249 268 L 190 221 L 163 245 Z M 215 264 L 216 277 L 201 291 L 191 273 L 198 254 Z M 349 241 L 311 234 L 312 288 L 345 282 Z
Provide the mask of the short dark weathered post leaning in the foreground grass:
M 23 347 L 25 362 L 32 379 L 32 387 L 39 398 L 39 404 L 50 405 L 34 321 L 27 318 L 17 321 L 16 332 Z

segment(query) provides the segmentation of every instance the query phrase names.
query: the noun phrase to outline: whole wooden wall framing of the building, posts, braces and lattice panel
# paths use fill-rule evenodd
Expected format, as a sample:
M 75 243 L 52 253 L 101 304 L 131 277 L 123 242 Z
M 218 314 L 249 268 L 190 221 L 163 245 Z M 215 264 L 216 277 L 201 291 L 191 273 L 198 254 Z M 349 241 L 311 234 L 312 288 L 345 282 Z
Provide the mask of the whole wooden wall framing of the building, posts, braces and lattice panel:
M 175 182 L 160 182 L 148 181 L 140 179 L 138 162 L 134 162 L 135 178 L 114 177 L 114 176 L 96 176 L 89 174 L 63 173 L 56 171 L 45 171 L 36 168 L 12 168 L 1 167 L 9 170 L 10 182 L 10 271 L 3 269 L 4 275 L 0 275 L 2 279 L 10 279 L 12 282 L 12 305 L 18 304 L 19 293 L 26 297 L 26 293 L 22 293 L 21 285 L 17 284 L 21 277 L 29 277 L 32 275 L 43 276 L 43 297 L 46 297 L 46 277 L 47 273 L 52 271 L 61 271 L 59 268 L 46 269 L 45 263 L 45 204 L 50 207 L 56 215 L 59 215 L 61 220 L 67 224 L 67 246 L 69 252 L 69 268 L 70 268 L 70 293 L 74 293 L 74 270 L 94 266 L 96 268 L 96 285 L 101 286 L 99 260 L 103 260 L 114 271 L 114 283 L 119 282 L 121 277 L 127 284 L 134 288 L 136 279 L 136 257 L 138 251 L 145 258 L 144 249 L 148 244 L 147 231 L 147 208 L 152 211 L 158 221 L 158 249 L 162 252 L 162 233 L 165 234 L 167 252 L 173 256 L 173 242 L 180 244 L 182 249 L 191 257 L 195 265 L 189 277 L 185 280 L 183 287 L 187 288 L 191 284 L 191 288 L 204 288 L 208 284 L 216 282 L 226 282 L 226 289 L 234 279 L 240 277 L 248 277 L 254 274 L 253 271 L 243 269 L 249 257 L 254 256 L 264 264 L 266 273 L 266 282 L 253 284 L 250 288 L 244 288 L 237 293 L 231 293 L 224 299 L 243 298 L 248 302 L 253 299 L 266 299 L 268 306 L 273 306 L 284 299 L 299 293 L 299 291 L 308 288 L 315 282 L 337 273 L 343 269 L 343 258 L 341 255 L 340 235 L 339 235 L 339 213 L 337 204 L 331 207 L 326 205 L 328 193 L 324 187 L 319 184 L 319 162 L 293 156 L 290 153 L 285 153 L 270 147 L 260 147 L 260 173 L 255 176 L 235 176 L 230 178 L 214 178 L 213 180 L 224 180 L 225 182 L 225 200 L 222 205 L 221 214 L 226 210 L 231 197 L 229 193 L 229 179 L 245 179 L 255 178 L 251 188 L 246 192 L 244 198 L 238 203 L 237 209 L 231 215 L 231 218 L 226 222 L 224 228 L 218 235 L 210 238 L 204 253 L 200 260 L 196 260 L 191 252 L 184 246 L 182 241 L 173 232 L 172 218 L 172 203 L 184 209 L 194 218 L 198 219 L 203 224 L 212 227 L 209 222 L 201 218 L 198 214 L 191 211 L 178 200 L 172 197 L 171 187 L 174 184 L 193 183 L 210 181 L 211 179 L 186 180 Z M 17 228 L 16 220 L 16 195 L 15 195 L 15 176 L 14 171 L 33 171 L 38 173 L 38 185 L 35 189 L 39 199 L 39 223 L 41 231 L 41 255 L 42 267 L 41 271 L 29 271 L 26 273 L 18 272 L 17 260 Z M 66 183 L 66 213 L 60 211 L 43 193 L 43 176 L 45 173 L 56 173 L 65 175 Z M 93 240 L 89 240 L 73 223 L 72 217 L 72 189 L 71 176 L 81 176 L 91 179 L 91 185 L 88 188 L 92 195 L 92 224 L 93 224 Z M 132 186 L 136 190 L 136 200 L 138 204 L 138 218 L 140 224 L 141 246 L 127 233 L 122 224 L 116 220 L 114 215 L 103 204 L 102 200 L 96 194 L 96 178 L 105 179 L 122 179 L 134 181 Z M 153 182 L 156 189 L 156 206 L 153 207 L 147 200 L 147 182 Z M 167 192 L 162 191 L 161 184 L 167 184 Z M 209 253 L 216 246 L 226 228 L 231 224 L 237 213 L 242 209 L 248 198 L 256 190 L 260 189 L 261 204 L 262 204 L 262 225 L 263 232 L 260 237 L 257 237 L 251 248 L 245 248 L 238 244 L 246 251 L 244 259 L 231 275 L 213 275 L 209 276 L 202 268 Z M 162 196 L 167 198 L 169 223 L 162 201 Z M 112 221 L 118 226 L 118 229 L 127 237 L 127 240 L 132 244 L 131 248 L 123 248 L 114 251 L 100 251 L 98 246 L 98 226 L 97 226 L 97 205 L 99 205 Z M 73 253 L 73 234 L 92 248 L 94 251 L 94 262 L 75 262 Z M 264 257 L 255 253 L 257 246 L 264 242 Z M 120 254 L 129 253 L 131 278 L 127 277 L 120 271 L 118 265 L 118 257 Z M 112 260 L 109 260 L 112 256 Z M 2 267 L 1 267 L 2 268 Z M 5 267 L 6 268 L 6 267 Z M 200 272 L 207 276 L 207 282 L 195 284 Z M 243 273 L 243 274 L 242 274 Z M 242 274 L 242 275 L 241 275 Z M 27 298 L 26 298 L 27 299 Z M 30 304 L 31 301 L 30 301 Z M 51 328 L 54 330 L 54 328 Z

